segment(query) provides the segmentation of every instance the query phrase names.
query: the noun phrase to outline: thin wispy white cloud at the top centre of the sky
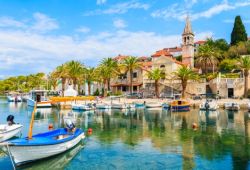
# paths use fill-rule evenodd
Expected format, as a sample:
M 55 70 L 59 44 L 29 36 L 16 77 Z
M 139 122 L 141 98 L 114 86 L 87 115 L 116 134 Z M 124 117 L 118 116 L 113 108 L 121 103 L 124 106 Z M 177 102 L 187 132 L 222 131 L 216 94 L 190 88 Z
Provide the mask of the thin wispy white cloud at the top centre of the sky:
M 150 7 L 149 4 L 140 3 L 136 1 L 129 1 L 112 5 L 110 8 L 104 10 L 97 9 L 94 11 L 89 11 L 84 13 L 83 15 L 92 16 L 92 15 L 102 15 L 102 14 L 124 14 L 131 9 L 147 10 L 149 7 Z

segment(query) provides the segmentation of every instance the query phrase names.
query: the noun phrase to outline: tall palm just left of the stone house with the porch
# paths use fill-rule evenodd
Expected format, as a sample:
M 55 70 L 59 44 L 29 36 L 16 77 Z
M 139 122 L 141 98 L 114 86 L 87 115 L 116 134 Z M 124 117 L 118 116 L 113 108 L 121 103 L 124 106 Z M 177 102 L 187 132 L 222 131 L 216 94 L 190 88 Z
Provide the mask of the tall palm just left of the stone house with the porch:
M 105 69 L 107 83 L 108 83 L 108 90 L 110 91 L 110 80 L 112 77 L 115 76 L 116 70 L 118 68 L 117 61 L 113 58 L 104 58 L 101 61 L 101 67 Z

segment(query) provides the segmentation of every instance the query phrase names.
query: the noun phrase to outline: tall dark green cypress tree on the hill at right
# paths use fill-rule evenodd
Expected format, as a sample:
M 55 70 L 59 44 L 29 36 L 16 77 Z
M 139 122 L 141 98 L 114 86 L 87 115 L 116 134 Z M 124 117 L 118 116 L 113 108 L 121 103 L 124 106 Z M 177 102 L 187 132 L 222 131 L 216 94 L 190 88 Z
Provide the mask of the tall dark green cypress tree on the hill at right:
M 234 21 L 234 28 L 231 33 L 231 45 L 236 45 L 238 42 L 247 41 L 247 33 L 241 17 L 236 16 Z

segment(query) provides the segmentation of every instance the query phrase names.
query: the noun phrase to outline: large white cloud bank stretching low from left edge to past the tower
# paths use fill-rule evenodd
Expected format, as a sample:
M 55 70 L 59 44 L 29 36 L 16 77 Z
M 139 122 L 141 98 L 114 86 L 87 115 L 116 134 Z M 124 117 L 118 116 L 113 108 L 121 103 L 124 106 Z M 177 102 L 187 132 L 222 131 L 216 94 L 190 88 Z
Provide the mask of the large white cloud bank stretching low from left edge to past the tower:
M 204 39 L 210 35 L 211 32 L 203 32 L 196 37 Z M 102 58 L 117 54 L 150 56 L 156 50 L 181 43 L 181 34 L 168 36 L 144 31 L 101 32 L 79 40 L 65 35 L 0 29 L 0 37 L 1 74 L 50 72 L 72 59 L 95 65 Z

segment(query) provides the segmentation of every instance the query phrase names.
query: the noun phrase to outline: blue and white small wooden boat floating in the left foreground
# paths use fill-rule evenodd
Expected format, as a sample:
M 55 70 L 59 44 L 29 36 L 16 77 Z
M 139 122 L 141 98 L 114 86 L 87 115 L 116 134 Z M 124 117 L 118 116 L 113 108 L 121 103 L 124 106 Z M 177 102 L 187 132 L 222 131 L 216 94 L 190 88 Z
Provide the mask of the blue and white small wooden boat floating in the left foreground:
M 68 132 L 66 128 L 60 128 L 34 135 L 31 140 L 28 137 L 10 140 L 6 145 L 14 163 L 21 165 L 65 152 L 76 146 L 84 137 L 81 129 Z

